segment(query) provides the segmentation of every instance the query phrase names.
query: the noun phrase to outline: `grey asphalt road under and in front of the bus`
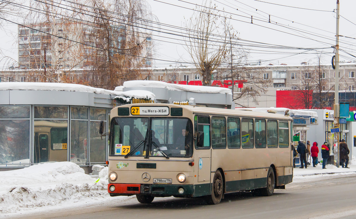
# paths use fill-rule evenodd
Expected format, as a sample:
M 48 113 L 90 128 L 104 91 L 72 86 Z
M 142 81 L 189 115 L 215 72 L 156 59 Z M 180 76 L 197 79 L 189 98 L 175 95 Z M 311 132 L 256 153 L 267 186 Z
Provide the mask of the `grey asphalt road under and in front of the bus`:
M 274 191 L 271 197 L 254 197 L 247 192 L 225 194 L 218 205 L 206 205 L 199 198 L 173 197 L 140 204 L 133 196 L 95 208 L 41 212 L 23 218 L 356 218 L 356 175 L 322 176 Z

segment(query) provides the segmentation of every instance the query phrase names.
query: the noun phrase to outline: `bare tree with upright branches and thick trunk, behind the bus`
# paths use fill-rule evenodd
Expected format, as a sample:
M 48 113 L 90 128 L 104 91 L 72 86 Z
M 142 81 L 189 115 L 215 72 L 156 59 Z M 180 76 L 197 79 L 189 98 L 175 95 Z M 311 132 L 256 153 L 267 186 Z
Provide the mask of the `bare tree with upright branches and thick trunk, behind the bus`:
M 226 18 L 221 18 L 211 1 L 197 6 L 185 22 L 186 50 L 202 76 L 203 86 L 211 85 L 211 74 L 226 58 L 228 51 Z

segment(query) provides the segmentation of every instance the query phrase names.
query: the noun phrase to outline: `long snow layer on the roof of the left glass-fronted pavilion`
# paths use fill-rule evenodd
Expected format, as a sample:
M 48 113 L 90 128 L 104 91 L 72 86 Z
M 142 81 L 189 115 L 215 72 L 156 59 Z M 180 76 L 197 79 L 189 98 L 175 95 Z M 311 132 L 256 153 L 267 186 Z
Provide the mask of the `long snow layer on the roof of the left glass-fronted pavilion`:
M 112 91 L 96 87 L 90 87 L 80 84 L 66 83 L 48 83 L 48 82 L 1 82 L 0 90 L 37 90 L 37 91 L 77 91 L 95 94 L 111 94 L 116 96 L 125 96 L 133 98 L 151 98 L 156 97 L 150 91 L 132 90 L 132 91 Z

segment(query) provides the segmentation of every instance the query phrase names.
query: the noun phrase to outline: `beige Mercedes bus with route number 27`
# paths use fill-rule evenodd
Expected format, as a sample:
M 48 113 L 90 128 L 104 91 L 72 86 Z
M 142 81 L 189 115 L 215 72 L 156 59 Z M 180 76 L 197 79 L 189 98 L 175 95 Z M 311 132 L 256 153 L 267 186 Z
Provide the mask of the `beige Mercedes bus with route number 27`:
M 162 103 L 115 107 L 108 192 L 136 195 L 140 203 L 205 196 L 218 204 L 237 191 L 271 196 L 292 182 L 291 130 L 292 118 L 276 113 Z

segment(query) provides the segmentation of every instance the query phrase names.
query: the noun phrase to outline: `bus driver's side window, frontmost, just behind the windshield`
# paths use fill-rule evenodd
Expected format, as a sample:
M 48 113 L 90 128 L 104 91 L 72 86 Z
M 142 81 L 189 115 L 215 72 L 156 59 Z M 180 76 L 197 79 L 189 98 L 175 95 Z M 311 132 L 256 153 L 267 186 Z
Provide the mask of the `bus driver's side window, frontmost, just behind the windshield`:
M 210 148 L 210 118 L 203 116 L 194 117 L 194 137 L 196 148 Z

